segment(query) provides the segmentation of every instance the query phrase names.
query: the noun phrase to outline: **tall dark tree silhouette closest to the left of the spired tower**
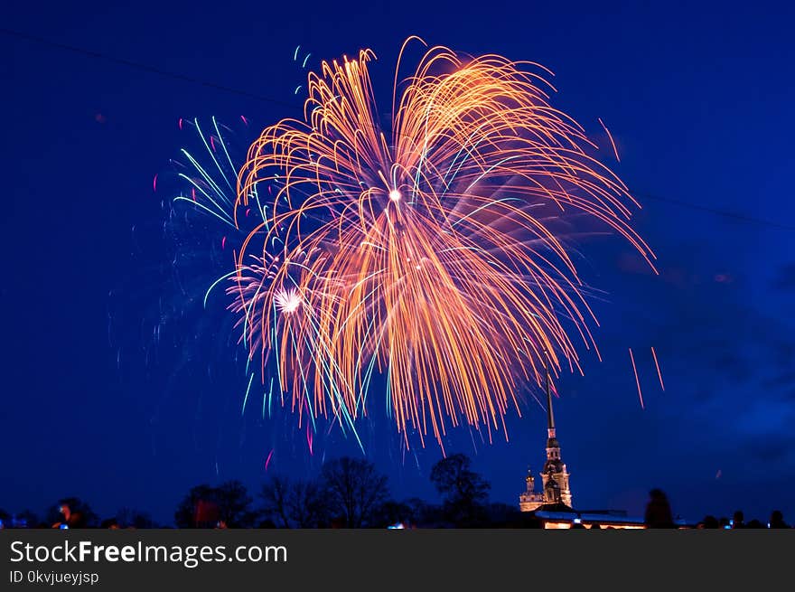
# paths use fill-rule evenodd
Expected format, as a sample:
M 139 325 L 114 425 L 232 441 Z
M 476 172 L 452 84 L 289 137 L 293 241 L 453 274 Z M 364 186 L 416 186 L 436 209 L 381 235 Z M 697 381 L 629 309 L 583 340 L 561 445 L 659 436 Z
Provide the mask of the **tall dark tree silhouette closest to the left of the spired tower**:
M 474 526 L 485 518 L 484 503 L 489 499 L 489 484 L 471 469 L 469 456 L 455 454 L 431 468 L 431 482 L 444 500 L 449 520 L 459 526 Z

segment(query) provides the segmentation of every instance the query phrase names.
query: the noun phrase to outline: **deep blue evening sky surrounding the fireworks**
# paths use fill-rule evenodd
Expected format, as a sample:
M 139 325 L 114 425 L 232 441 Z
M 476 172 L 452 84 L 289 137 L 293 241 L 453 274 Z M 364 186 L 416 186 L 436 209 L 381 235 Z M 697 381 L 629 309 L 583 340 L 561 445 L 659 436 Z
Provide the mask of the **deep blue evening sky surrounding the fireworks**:
M 659 486 L 693 518 L 737 508 L 795 518 L 795 14 L 758 2 L 579 4 L 5 6 L 8 29 L 284 104 L 0 35 L 0 507 L 41 511 L 79 495 L 103 516 L 133 506 L 168 521 L 193 484 L 257 487 L 271 449 L 270 470 L 296 476 L 313 475 L 323 453 L 355 453 L 332 434 L 309 455 L 289 415 L 241 418 L 246 377 L 229 319 L 221 302 L 197 307 L 201 273 L 177 286 L 160 230 L 168 195 L 152 180 L 186 143 L 179 117 L 245 115 L 261 128 L 297 115 L 296 45 L 312 52 L 310 67 L 370 47 L 388 89 L 400 43 L 418 34 L 554 70 L 553 104 L 597 141 L 602 117 L 622 156 L 614 169 L 644 206 L 636 223 L 659 277 L 621 240 L 578 244 L 607 297 L 594 302 L 603 362 L 583 352 L 585 377 L 559 384 L 575 505 L 640 512 Z M 510 420 L 510 443 L 462 430 L 448 449 L 474 457 L 492 499 L 516 503 L 527 465 L 542 464 L 544 421 L 529 407 Z M 388 421 L 374 423 L 362 433 L 395 495 L 434 499 L 438 449 L 404 457 Z

